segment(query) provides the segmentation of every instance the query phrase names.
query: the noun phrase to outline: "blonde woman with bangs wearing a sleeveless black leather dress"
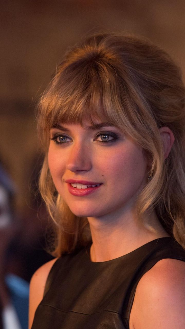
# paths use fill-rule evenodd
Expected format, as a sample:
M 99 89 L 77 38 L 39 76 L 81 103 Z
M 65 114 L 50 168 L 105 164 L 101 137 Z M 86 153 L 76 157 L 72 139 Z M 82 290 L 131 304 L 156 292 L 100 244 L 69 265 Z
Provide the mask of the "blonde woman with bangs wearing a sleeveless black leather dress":
M 179 69 L 143 38 L 93 35 L 66 54 L 38 120 L 59 258 L 32 278 L 30 328 L 36 309 L 33 329 L 183 328 Z

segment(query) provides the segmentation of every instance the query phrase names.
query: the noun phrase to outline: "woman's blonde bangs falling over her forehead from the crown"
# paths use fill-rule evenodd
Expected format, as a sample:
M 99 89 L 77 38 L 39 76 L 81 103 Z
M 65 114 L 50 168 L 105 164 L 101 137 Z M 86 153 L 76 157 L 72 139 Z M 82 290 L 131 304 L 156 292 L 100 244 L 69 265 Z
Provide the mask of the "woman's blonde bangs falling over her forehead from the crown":
M 136 104 L 129 99 L 127 83 L 118 69 L 105 58 L 75 62 L 64 69 L 62 66 L 40 102 L 42 132 L 59 122 L 83 126 L 84 119 L 130 132 L 128 116 L 130 107 L 133 111 Z

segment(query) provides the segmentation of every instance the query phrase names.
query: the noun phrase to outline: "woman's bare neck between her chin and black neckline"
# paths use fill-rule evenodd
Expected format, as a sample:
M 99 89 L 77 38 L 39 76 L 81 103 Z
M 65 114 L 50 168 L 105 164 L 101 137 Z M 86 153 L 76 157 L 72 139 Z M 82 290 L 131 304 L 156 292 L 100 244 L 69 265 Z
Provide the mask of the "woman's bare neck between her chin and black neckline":
M 136 219 L 134 214 L 125 214 L 122 218 L 88 218 L 93 244 L 91 260 L 104 262 L 123 256 L 145 243 L 169 236 L 161 226 L 155 211 L 149 216 L 147 223 L 153 230 L 147 229 Z

